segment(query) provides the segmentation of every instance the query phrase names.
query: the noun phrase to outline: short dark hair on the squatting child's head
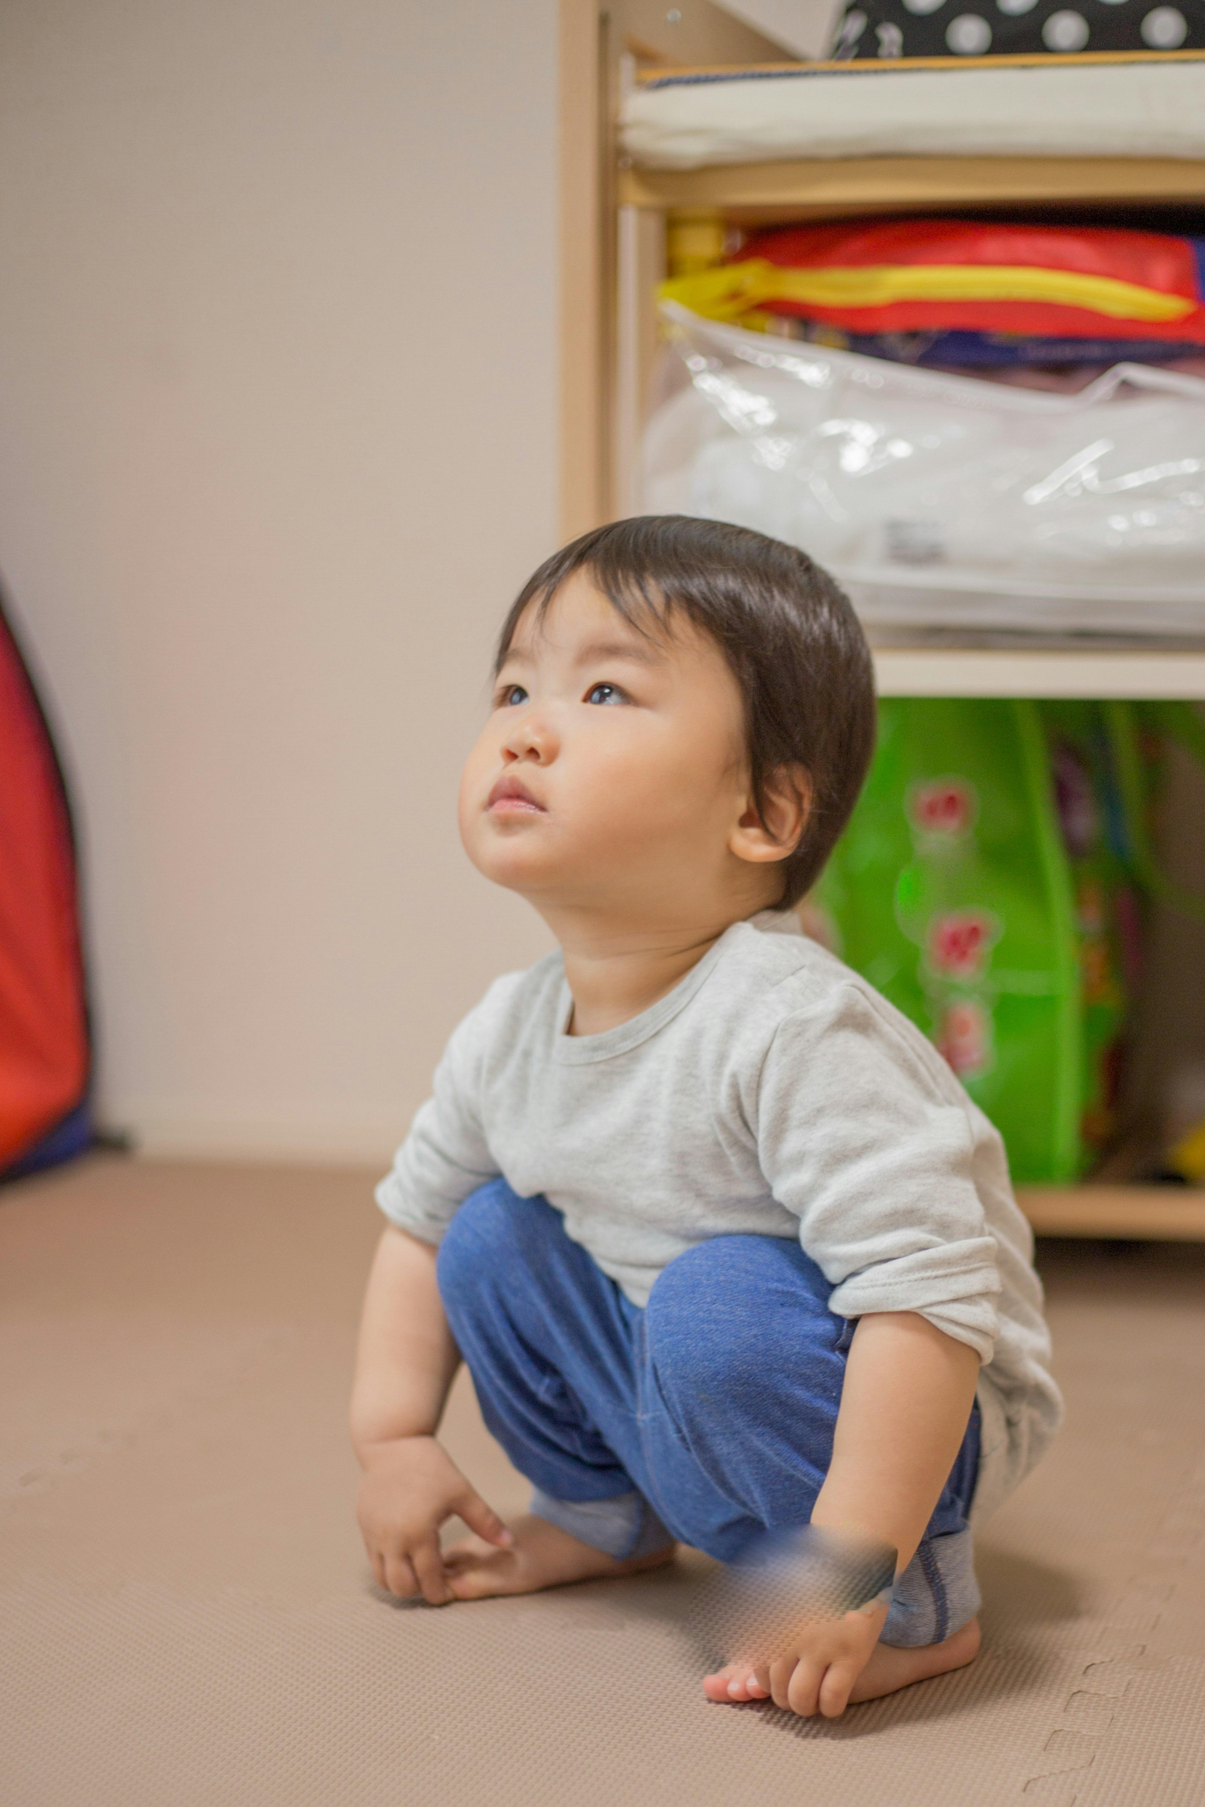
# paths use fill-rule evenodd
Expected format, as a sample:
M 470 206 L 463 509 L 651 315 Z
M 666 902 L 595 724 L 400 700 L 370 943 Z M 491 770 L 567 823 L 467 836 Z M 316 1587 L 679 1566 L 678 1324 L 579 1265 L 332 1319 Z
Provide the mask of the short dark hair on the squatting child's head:
M 546 558 L 524 584 L 499 636 L 497 667 L 518 618 L 538 616 L 574 571 L 587 571 L 641 632 L 681 613 L 723 649 L 741 696 L 753 802 L 782 766 L 811 786 L 808 822 L 782 860 L 789 909 L 820 876 L 858 801 L 874 750 L 874 670 L 845 593 L 808 553 L 748 528 L 694 515 L 636 515 L 594 528 Z

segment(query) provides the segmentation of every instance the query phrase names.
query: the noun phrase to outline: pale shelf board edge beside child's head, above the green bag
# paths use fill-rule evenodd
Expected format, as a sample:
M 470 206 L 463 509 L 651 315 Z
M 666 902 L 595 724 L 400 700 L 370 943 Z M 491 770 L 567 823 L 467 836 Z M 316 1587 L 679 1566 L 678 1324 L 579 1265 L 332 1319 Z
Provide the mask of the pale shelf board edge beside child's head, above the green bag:
M 876 647 L 880 696 L 1205 699 L 1205 652 Z

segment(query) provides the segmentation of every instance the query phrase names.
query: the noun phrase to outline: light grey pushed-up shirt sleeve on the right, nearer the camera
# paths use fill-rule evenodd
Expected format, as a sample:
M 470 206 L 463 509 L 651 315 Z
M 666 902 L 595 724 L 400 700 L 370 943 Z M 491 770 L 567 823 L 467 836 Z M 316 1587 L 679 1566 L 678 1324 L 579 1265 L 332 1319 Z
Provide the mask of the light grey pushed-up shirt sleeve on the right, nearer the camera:
M 976 1187 L 957 1081 L 891 1005 L 856 985 L 779 1025 L 757 1088 L 773 1196 L 835 1288 L 829 1308 L 918 1312 L 988 1362 L 999 1335 L 995 1238 Z

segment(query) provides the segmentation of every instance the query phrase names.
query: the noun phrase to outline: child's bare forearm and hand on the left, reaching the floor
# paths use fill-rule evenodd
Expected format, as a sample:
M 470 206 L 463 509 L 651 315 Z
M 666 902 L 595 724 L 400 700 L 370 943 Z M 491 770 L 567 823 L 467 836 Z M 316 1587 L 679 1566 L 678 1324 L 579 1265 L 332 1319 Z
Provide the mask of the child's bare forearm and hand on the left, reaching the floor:
M 511 1540 L 502 1520 L 435 1442 L 461 1364 L 439 1288 L 435 1249 L 387 1229 L 360 1321 L 352 1446 L 363 1467 L 360 1531 L 372 1572 L 390 1594 L 452 1599 L 439 1527 L 453 1512 L 490 1543 Z

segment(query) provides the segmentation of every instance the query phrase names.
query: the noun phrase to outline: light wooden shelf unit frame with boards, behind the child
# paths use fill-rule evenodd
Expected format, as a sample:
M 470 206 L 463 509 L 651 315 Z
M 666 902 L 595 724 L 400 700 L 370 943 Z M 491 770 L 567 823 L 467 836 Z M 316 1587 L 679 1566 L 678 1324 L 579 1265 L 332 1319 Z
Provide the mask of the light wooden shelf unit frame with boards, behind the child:
M 571 538 L 631 508 L 627 472 L 656 351 L 654 284 L 670 219 L 733 224 L 927 213 L 941 208 L 1205 210 L 1205 163 L 1122 157 L 865 157 L 640 170 L 614 119 L 631 63 L 780 63 L 768 40 L 710 0 L 667 13 L 647 0 L 560 0 L 562 18 L 562 529 Z M 621 166 L 623 163 L 623 166 Z M 1205 651 L 878 647 L 885 696 L 1205 699 Z M 1032 1185 L 1037 1234 L 1205 1241 L 1205 1189 Z

